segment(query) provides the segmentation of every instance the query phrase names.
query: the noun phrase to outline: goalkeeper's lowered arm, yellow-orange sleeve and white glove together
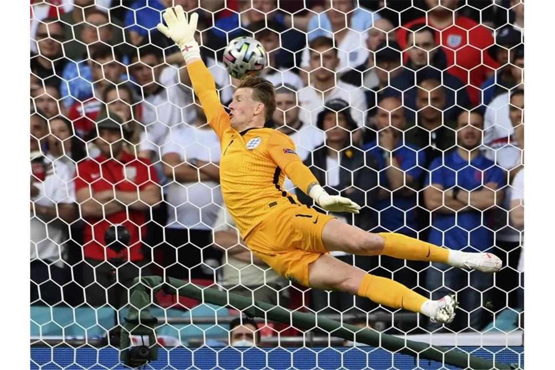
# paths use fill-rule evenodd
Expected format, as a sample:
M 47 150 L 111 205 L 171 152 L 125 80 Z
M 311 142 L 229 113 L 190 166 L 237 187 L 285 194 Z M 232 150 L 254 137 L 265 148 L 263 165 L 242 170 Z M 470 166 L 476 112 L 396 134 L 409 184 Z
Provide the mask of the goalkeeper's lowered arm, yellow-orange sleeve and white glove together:
M 327 194 L 314 174 L 295 153 L 295 143 L 291 138 L 276 132 L 269 138 L 268 151 L 272 160 L 292 183 L 314 199 L 320 207 L 331 212 L 359 213 L 360 206 L 349 198 Z

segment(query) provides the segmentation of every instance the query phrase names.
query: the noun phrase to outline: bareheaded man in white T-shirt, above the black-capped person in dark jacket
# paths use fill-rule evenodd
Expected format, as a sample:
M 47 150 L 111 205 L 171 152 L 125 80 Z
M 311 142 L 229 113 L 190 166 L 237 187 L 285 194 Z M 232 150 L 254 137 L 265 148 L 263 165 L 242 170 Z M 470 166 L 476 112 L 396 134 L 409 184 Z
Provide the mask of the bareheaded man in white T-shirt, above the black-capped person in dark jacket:
M 302 108 L 300 119 L 316 125 L 318 113 L 324 109 L 325 102 L 331 99 L 345 99 L 354 110 L 352 116 L 360 127 L 364 123 L 367 109 L 362 88 L 341 80 L 335 82 L 335 72 L 339 59 L 337 49 L 331 38 L 317 37 L 310 42 L 310 85 L 299 90 L 299 105 Z M 348 98 L 347 98 L 348 97 Z M 359 131 L 360 132 L 360 131 Z M 357 142 L 357 138 L 355 141 Z

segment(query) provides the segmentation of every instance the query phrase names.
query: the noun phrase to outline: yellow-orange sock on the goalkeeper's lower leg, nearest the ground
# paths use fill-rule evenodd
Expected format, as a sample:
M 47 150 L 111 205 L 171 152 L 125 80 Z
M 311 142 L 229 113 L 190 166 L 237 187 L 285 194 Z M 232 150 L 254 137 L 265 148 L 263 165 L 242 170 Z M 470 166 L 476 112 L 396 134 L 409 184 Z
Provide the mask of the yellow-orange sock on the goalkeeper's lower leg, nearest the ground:
M 391 279 L 366 274 L 359 287 L 359 296 L 370 298 L 381 305 L 404 308 L 412 312 L 420 312 L 428 298 L 413 292 L 406 286 Z

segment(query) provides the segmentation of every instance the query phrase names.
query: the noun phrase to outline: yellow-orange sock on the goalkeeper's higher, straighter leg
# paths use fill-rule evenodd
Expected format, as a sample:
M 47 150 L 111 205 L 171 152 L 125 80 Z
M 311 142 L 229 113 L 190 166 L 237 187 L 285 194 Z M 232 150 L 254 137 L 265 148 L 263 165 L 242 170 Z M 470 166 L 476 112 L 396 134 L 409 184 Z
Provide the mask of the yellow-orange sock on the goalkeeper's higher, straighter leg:
M 449 250 L 425 241 L 397 234 L 396 232 L 380 232 L 384 238 L 384 256 L 411 261 L 432 261 L 447 263 Z

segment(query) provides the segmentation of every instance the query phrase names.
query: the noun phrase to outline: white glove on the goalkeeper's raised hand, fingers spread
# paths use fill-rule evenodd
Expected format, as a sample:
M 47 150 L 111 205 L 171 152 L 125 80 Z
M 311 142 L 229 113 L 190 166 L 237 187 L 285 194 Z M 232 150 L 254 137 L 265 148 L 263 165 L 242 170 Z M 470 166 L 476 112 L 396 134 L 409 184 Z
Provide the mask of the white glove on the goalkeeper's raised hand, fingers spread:
M 174 8 L 166 9 L 163 17 L 168 27 L 158 23 L 156 28 L 166 37 L 174 40 L 179 46 L 185 62 L 188 62 L 191 58 L 200 58 L 199 44 L 195 41 L 196 22 L 199 19 L 199 15 L 193 13 L 189 17 L 189 21 L 187 21 L 183 7 L 178 5 Z

